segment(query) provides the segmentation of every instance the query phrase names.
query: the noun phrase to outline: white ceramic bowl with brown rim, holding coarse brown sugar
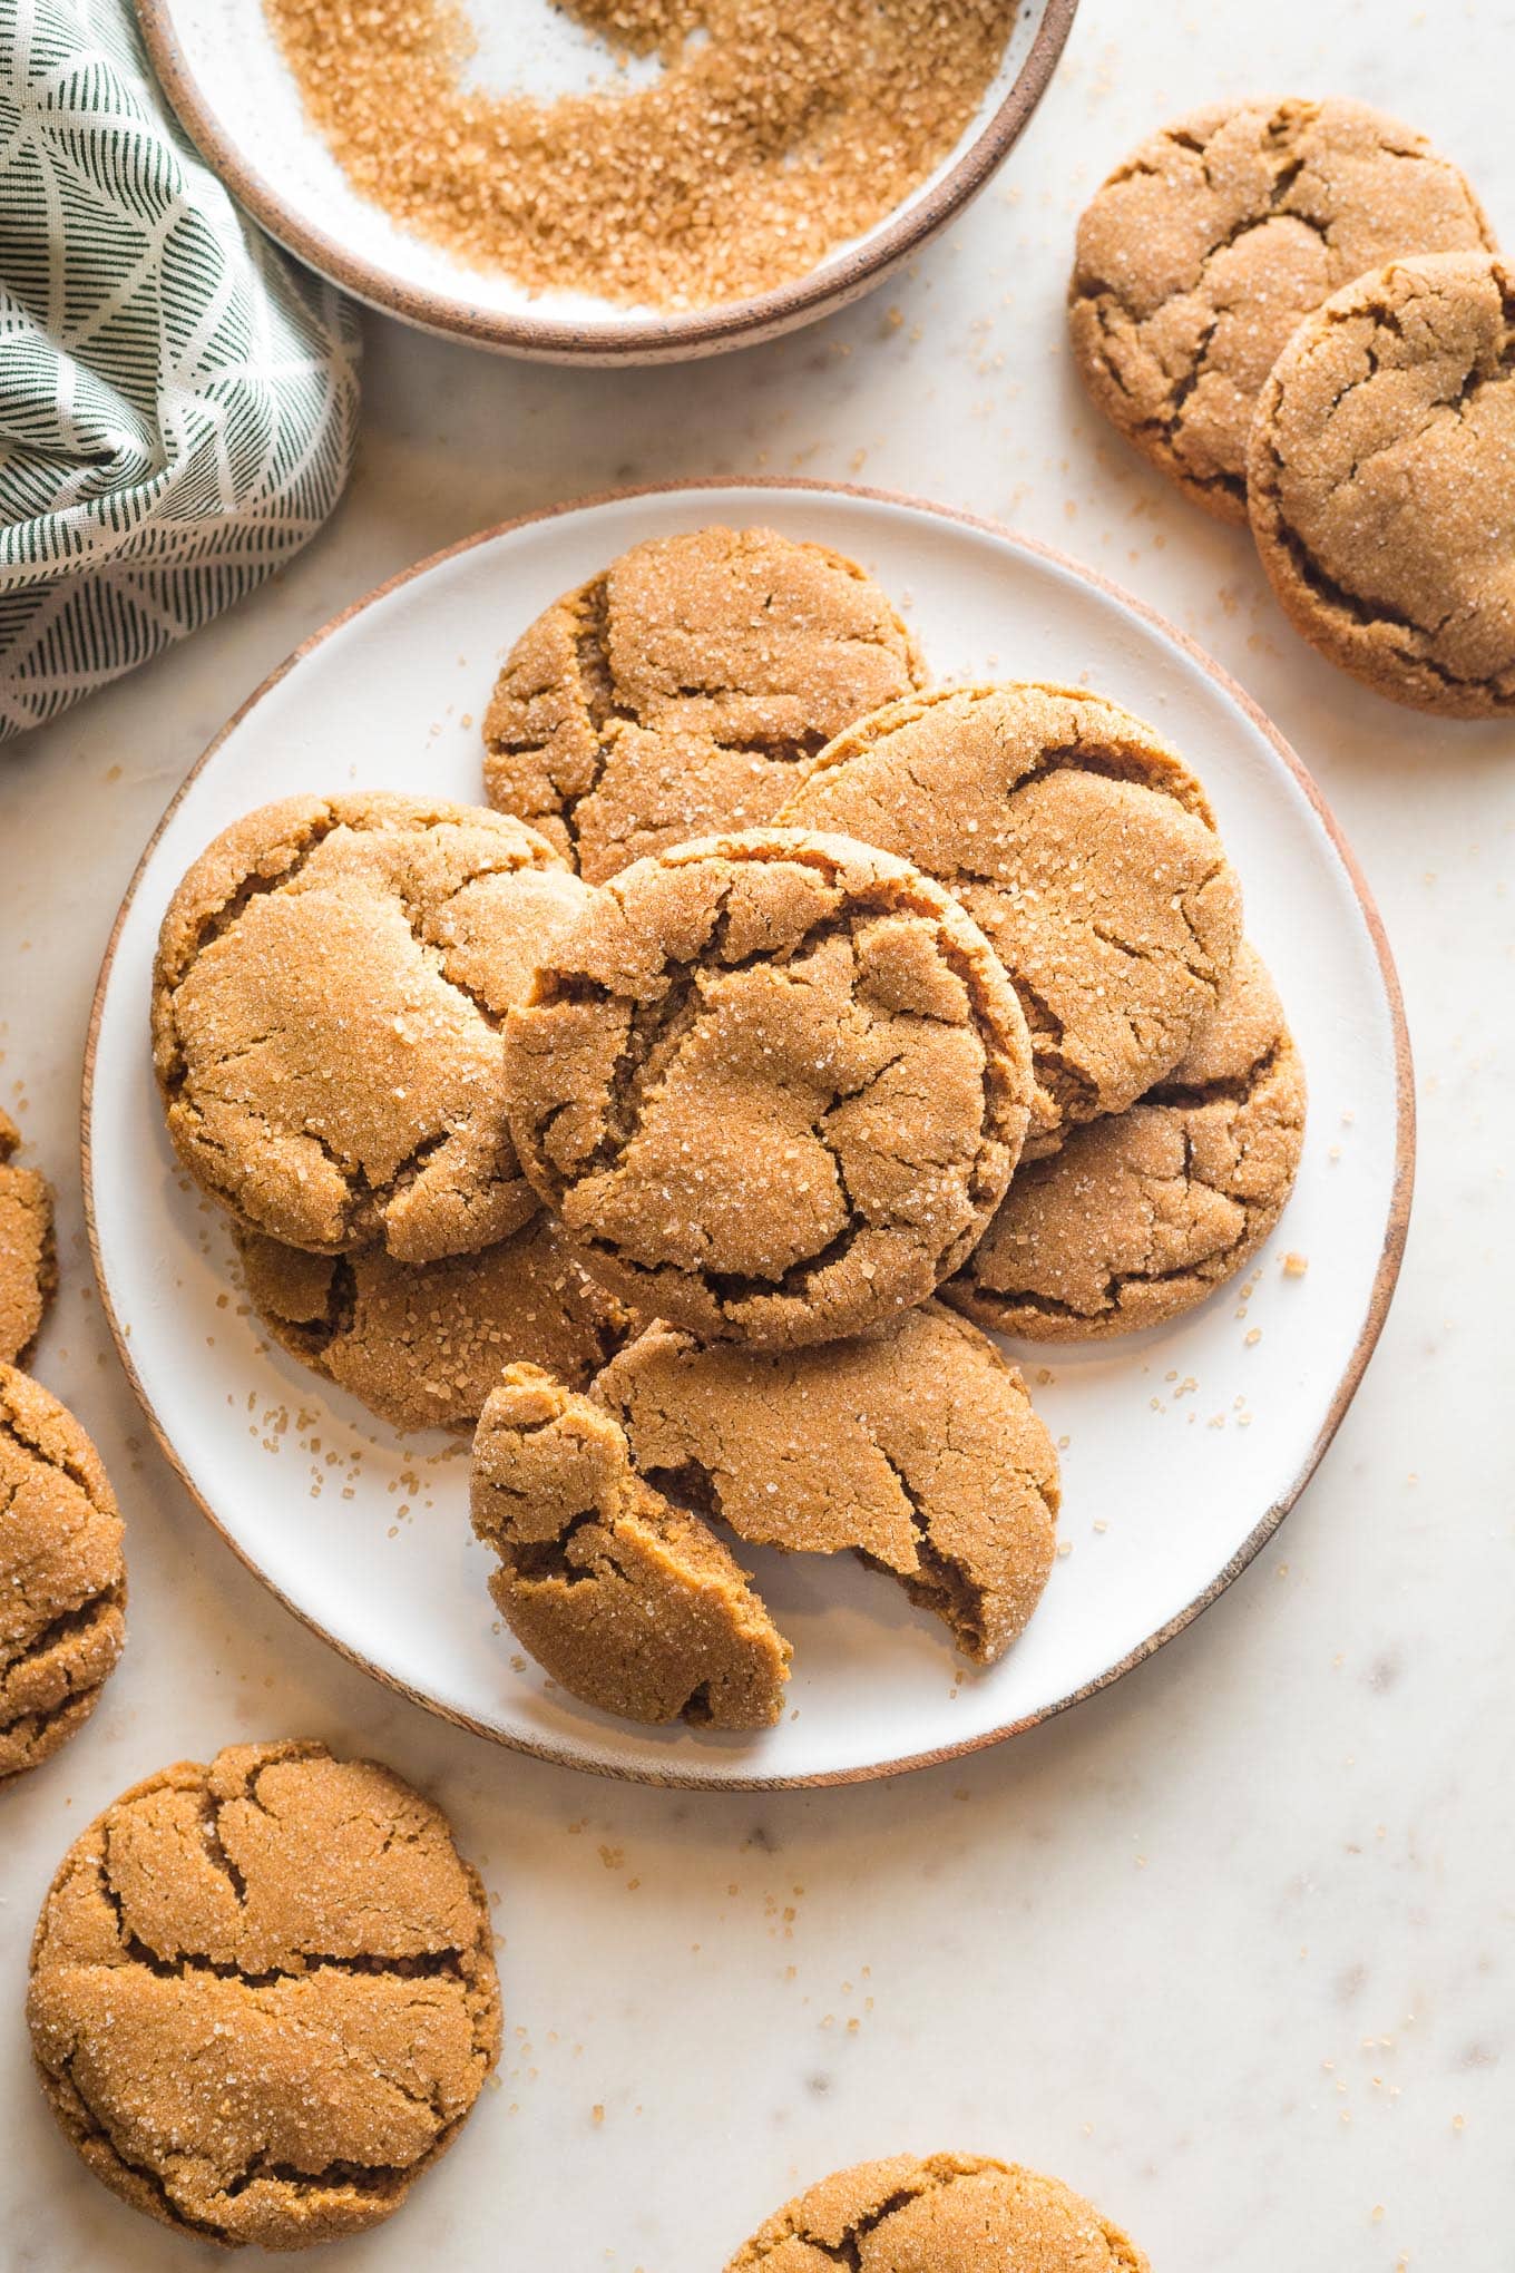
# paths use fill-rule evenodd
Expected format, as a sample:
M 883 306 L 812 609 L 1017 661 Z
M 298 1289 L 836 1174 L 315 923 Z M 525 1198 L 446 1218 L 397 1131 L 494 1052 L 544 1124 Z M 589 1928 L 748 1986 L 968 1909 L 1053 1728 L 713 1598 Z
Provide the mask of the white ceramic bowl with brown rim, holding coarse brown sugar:
M 429 332 L 554 361 L 672 361 L 770 339 L 879 284 L 943 230 L 1011 150 L 1056 66 L 1079 0 L 1020 0 L 1004 61 L 943 164 L 865 236 L 777 291 L 661 314 L 588 293 L 529 293 L 466 268 L 361 198 L 307 123 L 261 0 L 136 0 L 152 66 L 232 195 L 270 236 L 345 291 Z M 531 95 L 577 93 L 609 48 L 550 0 L 468 0 L 470 77 Z M 616 70 L 636 84 L 654 64 Z

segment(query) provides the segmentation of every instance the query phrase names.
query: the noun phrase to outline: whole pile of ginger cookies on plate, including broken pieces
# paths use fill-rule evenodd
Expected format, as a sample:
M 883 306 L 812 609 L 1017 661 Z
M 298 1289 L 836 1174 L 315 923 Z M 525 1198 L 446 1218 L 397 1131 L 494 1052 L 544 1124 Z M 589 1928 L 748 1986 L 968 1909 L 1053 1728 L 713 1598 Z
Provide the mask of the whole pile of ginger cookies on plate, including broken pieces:
M 154 1061 L 273 1337 L 475 1432 L 513 1634 L 761 1727 L 731 1539 L 852 1550 L 995 1662 L 1056 1452 L 984 1327 L 1170 1318 L 1256 1252 L 1304 1077 L 1204 789 L 1045 684 L 927 691 L 852 561 L 636 546 L 488 707 L 486 807 L 263 807 L 164 921 Z

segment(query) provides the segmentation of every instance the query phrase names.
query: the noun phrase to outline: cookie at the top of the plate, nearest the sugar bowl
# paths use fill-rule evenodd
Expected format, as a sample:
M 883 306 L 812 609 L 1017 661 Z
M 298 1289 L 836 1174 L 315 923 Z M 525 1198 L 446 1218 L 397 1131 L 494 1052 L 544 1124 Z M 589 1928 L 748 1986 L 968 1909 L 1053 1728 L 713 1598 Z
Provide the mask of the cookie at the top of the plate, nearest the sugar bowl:
M 622 552 L 522 632 L 484 721 L 488 802 L 591 884 L 761 827 L 795 759 L 924 673 L 856 561 L 772 530 Z

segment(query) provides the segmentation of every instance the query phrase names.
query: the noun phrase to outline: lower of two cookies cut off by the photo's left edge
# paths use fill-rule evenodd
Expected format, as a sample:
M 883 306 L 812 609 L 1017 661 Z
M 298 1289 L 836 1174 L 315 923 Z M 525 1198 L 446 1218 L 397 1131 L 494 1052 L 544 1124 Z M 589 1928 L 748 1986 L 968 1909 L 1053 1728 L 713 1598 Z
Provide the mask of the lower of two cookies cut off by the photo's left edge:
M 0 1784 L 89 1721 L 125 1641 L 120 1514 L 57 1398 L 0 1366 Z

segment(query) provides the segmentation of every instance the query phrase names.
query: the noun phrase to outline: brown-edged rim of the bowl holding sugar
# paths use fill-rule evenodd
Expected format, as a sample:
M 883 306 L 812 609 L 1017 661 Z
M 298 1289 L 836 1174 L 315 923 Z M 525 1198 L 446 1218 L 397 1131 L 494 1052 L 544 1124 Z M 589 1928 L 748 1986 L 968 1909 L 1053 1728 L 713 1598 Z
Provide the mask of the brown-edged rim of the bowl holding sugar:
M 945 230 L 1020 141 L 1068 43 L 1077 7 L 1079 0 L 1045 0 L 1031 50 L 984 132 L 974 136 L 927 198 L 884 223 L 845 259 L 834 261 L 825 273 L 797 277 L 793 284 L 781 284 L 752 300 L 627 323 L 613 332 L 584 323 L 502 316 L 495 309 L 470 307 L 461 298 L 400 284 L 334 236 L 309 227 L 248 164 L 241 145 L 225 134 L 209 109 L 173 27 L 168 0 L 136 0 L 136 16 L 159 84 L 204 161 L 270 236 L 277 236 L 288 252 L 341 284 L 357 300 L 366 300 L 368 307 L 388 316 L 400 316 L 402 323 L 413 323 L 422 332 L 443 332 L 450 339 L 466 339 L 475 348 L 495 348 L 547 364 L 672 364 L 697 355 L 720 355 L 725 348 L 754 345 L 761 339 L 790 332 L 795 325 L 813 323 L 831 309 L 847 307 L 849 300 L 872 291 L 911 252 Z

